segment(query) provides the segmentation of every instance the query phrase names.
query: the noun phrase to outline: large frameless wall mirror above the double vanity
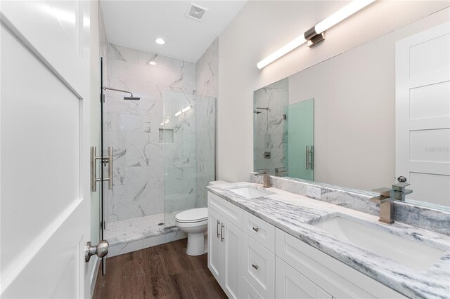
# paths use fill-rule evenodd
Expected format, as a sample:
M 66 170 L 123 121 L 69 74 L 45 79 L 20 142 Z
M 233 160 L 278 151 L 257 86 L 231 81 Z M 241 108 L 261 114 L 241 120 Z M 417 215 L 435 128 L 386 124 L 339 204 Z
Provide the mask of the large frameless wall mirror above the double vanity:
M 446 8 L 255 91 L 255 171 L 366 191 L 403 175 L 407 201 L 449 210 L 449 27 Z

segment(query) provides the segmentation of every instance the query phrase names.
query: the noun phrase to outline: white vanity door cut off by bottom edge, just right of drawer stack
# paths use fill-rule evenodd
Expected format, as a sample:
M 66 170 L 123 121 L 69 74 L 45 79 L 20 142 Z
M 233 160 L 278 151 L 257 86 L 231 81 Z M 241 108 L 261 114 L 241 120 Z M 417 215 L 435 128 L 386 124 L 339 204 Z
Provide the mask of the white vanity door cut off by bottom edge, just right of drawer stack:
M 276 258 L 276 298 L 311 298 L 331 299 L 321 288 L 287 265 L 280 258 Z

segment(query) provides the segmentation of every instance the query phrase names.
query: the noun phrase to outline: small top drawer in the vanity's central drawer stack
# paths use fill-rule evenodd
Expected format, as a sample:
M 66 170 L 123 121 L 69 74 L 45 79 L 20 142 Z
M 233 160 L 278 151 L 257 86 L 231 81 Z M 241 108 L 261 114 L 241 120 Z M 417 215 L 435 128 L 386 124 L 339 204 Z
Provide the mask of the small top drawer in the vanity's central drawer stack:
M 259 244 L 275 253 L 275 227 L 244 211 L 243 231 Z

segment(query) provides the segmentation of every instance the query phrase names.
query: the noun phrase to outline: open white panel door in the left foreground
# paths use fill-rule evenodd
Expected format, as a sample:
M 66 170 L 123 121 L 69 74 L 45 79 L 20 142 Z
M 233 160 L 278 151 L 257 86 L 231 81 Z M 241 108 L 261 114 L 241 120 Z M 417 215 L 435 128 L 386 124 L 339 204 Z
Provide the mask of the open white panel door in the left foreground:
M 89 298 L 89 1 L 1 2 L 1 298 Z

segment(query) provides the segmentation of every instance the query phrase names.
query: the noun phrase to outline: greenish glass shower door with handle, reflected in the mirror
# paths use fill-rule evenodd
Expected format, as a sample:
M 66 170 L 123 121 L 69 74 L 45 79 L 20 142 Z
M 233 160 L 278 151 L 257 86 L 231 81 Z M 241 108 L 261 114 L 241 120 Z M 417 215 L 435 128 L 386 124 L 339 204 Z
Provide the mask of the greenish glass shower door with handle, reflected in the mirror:
M 314 99 L 287 106 L 289 176 L 314 181 Z

